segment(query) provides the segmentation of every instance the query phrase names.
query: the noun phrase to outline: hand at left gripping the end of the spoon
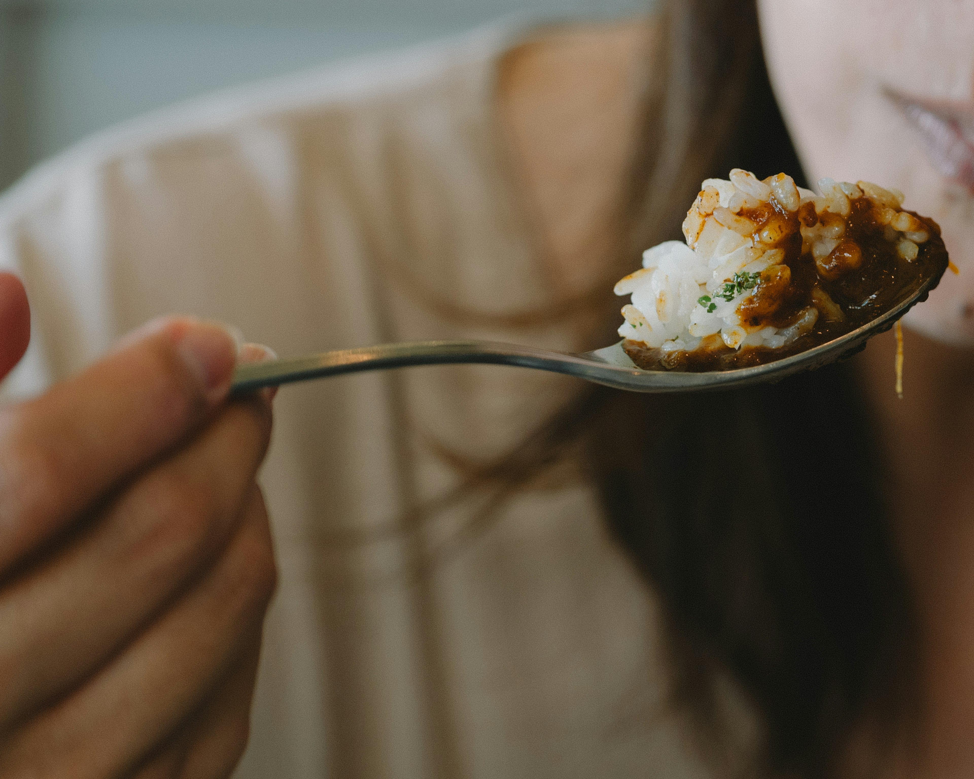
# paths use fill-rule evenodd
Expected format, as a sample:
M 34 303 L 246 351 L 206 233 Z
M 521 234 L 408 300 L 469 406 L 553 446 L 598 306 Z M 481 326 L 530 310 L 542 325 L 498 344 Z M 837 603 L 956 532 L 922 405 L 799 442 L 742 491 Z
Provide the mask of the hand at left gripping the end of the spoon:
M 0 333 L 5 375 L 29 315 L 3 274 Z M 0 777 L 208 779 L 243 754 L 276 571 L 272 395 L 229 401 L 235 359 L 161 320 L 0 409 Z

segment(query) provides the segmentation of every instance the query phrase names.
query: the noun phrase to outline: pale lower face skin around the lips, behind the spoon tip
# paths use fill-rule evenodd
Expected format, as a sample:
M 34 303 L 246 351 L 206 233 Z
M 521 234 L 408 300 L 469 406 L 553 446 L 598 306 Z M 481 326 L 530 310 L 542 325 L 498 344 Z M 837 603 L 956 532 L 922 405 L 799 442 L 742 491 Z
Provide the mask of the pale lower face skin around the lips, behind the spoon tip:
M 974 177 L 945 174 L 905 104 L 974 139 L 974 2 L 805 0 L 759 3 L 768 69 L 809 178 L 865 179 L 907 193 L 943 228 L 961 270 L 906 322 L 974 347 Z M 792 30 L 801 29 L 796 56 Z M 968 150 L 974 163 L 974 148 Z

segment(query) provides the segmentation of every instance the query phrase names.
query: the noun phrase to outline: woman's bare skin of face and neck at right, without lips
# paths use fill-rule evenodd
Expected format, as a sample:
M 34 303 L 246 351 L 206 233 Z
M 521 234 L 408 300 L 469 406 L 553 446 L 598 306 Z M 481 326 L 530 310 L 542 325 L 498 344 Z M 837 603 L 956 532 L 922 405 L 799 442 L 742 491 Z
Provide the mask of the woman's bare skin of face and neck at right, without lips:
M 866 179 L 932 216 L 948 273 L 904 322 L 905 398 L 891 391 L 894 343 L 859 360 L 891 468 L 887 485 L 923 630 L 918 752 L 893 774 L 974 773 L 974 177 L 911 121 L 953 124 L 974 142 L 974 2 L 763 0 L 772 82 L 812 178 Z M 809 56 L 794 56 L 801 29 Z M 960 159 L 974 163 L 974 146 Z M 955 158 L 956 160 L 956 158 Z

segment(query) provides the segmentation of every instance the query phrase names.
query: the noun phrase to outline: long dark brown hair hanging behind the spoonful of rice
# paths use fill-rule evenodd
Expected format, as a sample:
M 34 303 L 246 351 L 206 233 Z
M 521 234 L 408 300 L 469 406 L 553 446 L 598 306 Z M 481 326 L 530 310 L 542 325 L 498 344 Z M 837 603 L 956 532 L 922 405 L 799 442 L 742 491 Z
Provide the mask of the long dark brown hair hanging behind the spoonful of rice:
M 753 2 L 683 0 L 668 13 L 669 67 L 697 75 L 669 79 L 665 110 L 692 106 L 687 127 L 720 123 L 700 144 L 709 159 L 695 162 L 710 175 L 785 170 L 803 183 Z M 688 64 L 701 52 L 709 61 Z M 645 223 L 633 234 L 648 244 Z M 763 725 L 764 773 L 828 776 L 853 728 L 895 732 L 912 700 L 916 622 L 849 365 L 758 389 L 600 394 L 588 467 L 613 533 L 658 594 L 675 700 L 706 743 L 728 744 L 713 736 L 729 732 L 719 701 L 729 676 Z

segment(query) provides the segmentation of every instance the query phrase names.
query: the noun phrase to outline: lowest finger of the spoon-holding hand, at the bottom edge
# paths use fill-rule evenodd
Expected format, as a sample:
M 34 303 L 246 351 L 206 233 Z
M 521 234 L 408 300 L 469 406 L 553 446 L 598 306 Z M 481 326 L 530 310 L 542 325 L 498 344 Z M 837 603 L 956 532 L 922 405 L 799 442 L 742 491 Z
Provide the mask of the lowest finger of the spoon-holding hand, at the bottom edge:
M 240 665 L 132 779 L 216 779 L 230 776 L 250 734 L 250 704 L 257 679 L 261 634 Z

